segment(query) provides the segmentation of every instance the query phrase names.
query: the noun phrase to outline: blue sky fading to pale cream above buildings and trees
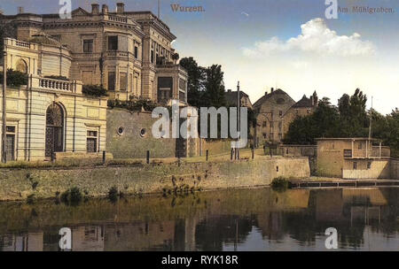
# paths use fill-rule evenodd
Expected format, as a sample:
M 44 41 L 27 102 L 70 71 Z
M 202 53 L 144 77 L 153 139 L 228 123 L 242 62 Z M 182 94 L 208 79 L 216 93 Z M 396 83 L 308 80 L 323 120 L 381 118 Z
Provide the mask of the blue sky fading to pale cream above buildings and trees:
M 60 0 L 0 0 L 5 14 L 59 11 Z M 63 0 L 61 0 L 62 2 Z M 327 0 L 328 2 L 329 0 Z M 72 9 L 91 3 L 72 0 Z M 226 88 L 237 81 L 254 103 L 270 88 L 294 100 L 327 96 L 332 104 L 361 88 L 368 107 L 387 114 L 399 107 L 399 1 L 337 0 L 338 19 L 327 19 L 325 0 L 160 0 L 160 19 L 177 36 L 180 58 L 201 66 L 222 65 Z M 125 0 L 127 11 L 152 11 L 158 0 Z M 173 12 L 171 4 L 201 6 L 203 12 Z M 388 12 L 352 12 L 354 6 Z M 348 12 L 344 12 L 348 8 Z M 373 100 L 373 102 L 372 102 Z

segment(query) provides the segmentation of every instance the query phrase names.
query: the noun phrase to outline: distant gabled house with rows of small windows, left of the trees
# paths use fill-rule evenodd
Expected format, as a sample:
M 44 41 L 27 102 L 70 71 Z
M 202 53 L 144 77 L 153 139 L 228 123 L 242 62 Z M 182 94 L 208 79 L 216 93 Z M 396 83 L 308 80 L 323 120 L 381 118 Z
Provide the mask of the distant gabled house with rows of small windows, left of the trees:
M 254 103 L 256 113 L 255 145 L 281 142 L 284 137 L 284 115 L 295 101 L 284 90 L 271 88 Z

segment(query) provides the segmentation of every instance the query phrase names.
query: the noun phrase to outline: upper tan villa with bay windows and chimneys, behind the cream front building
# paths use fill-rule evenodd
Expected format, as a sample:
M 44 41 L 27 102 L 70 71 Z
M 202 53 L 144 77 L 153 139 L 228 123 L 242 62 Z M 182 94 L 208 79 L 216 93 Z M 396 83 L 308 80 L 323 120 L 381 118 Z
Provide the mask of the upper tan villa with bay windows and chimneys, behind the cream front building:
M 61 44 L 59 50 L 70 51 L 67 70 L 63 58 L 53 55 L 49 65 L 37 68 L 38 75 L 48 75 L 59 65 L 59 75 L 103 85 L 109 98 L 143 97 L 159 103 L 173 98 L 185 104 L 187 73 L 176 65 L 178 54 L 171 46 L 176 36 L 169 27 L 152 12 L 126 12 L 123 3 L 114 12 L 106 4 L 101 9 L 91 6 L 91 12 L 74 10 L 71 19 L 19 13 L 0 15 L 0 20 L 13 29 L 15 39 L 34 42 L 46 35 Z

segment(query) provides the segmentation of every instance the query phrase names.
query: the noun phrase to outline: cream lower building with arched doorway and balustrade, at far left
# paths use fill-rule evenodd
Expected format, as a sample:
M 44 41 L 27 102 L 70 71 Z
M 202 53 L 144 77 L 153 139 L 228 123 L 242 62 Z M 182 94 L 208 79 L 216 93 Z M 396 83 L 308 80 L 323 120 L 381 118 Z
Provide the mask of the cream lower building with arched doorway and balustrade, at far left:
M 106 97 L 83 95 L 81 81 L 39 74 L 42 69 L 49 76 L 69 77 L 72 58 L 70 50 L 51 40 L 36 42 L 4 39 L 6 68 L 27 73 L 27 85 L 5 91 L 7 161 L 99 156 L 106 150 Z

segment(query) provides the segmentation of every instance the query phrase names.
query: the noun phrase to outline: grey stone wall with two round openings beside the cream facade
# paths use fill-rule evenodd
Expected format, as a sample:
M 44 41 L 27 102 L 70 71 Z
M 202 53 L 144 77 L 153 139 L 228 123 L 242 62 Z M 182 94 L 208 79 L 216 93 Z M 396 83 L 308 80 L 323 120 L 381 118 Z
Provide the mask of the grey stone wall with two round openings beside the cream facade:
M 151 112 L 114 108 L 108 109 L 106 119 L 106 150 L 113 158 L 145 158 L 147 150 L 151 158 L 175 157 L 175 139 L 153 137 L 151 129 L 157 119 L 151 117 Z

